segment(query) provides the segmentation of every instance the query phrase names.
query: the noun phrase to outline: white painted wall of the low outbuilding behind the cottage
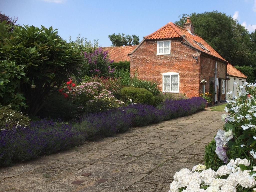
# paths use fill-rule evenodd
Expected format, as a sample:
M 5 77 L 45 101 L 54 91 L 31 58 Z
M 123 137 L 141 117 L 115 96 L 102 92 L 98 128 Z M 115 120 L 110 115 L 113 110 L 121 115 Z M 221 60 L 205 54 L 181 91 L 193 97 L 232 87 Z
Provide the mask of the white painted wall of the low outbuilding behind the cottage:
M 232 96 L 233 95 L 237 96 L 239 86 L 245 83 L 246 79 L 241 77 L 231 77 L 231 76 L 227 76 L 227 78 L 231 78 L 229 81 L 227 81 L 227 92 L 232 91 Z M 234 83 L 237 83 L 237 85 L 235 85 Z M 229 97 L 230 95 L 227 95 L 227 99 L 230 99 Z

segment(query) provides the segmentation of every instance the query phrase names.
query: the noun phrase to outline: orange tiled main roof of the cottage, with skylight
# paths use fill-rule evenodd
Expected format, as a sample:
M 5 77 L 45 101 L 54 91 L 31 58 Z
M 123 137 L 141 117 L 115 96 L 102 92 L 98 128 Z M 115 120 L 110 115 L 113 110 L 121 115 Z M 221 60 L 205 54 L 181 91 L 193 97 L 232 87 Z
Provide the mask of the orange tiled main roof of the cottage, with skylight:
M 204 39 L 202 39 L 200 36 L 198 36 L 196 34 L 191 34 L 186 29 L 184 29 L 178 25 L 175 25 L 172 22 L 167 23 L 162 28 L 158 29 L 154 33 L 152 33 L 144 38 L 147 40 L 147 39 L 171 39 L 171 38 L 181 38 L 181 37 L 185 37 L 186 40 L 188 41 L 188 43 L 191 46 L 193 46 L 194 48 L 198 49 L 199 51 L 205 52 L 208 55 L 211 55 L 211 56 L 217 57 L 223 61 L 226 61 L 210 45 L 208 45 L 208 43 Z M 209 51 L 201 48 L 195 41 L 204 45 Z

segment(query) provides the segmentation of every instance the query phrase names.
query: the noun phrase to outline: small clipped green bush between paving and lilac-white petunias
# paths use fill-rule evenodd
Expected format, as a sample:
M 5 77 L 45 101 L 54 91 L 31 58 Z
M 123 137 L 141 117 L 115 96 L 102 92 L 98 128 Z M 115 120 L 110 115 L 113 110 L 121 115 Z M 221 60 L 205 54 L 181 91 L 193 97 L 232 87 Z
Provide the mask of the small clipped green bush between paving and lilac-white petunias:
M 215 152 L 216 150 L 216 141 L 212 140 L 208 145 L 205 146 L 205 166 L 207 169 L 211 168 L 214 171 L 217 171 L 218 168 L 225 163 L 218 157 Z

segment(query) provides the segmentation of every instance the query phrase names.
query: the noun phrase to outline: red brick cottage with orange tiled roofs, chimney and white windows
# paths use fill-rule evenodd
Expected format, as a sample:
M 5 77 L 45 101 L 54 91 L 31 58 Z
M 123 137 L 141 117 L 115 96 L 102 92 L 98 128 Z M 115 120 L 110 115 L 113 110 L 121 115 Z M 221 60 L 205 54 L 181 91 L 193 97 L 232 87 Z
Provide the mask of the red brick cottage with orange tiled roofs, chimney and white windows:
M 142 80 L 156 81 L 163 92 L 197 97 L 209 92 L 212 82 L 217 90 L 214 102 L 226 100 L 228 62 L 194 34 L 190 18 L 184 28 L 172 22 L 166 24 L 144 37 L 138 46 L 104 49 L 116 62 L 129 61 L 127 56 L 130 56 L 131 76 L 136 73 Z M 207 83 L 200 83 L 202 80 Z

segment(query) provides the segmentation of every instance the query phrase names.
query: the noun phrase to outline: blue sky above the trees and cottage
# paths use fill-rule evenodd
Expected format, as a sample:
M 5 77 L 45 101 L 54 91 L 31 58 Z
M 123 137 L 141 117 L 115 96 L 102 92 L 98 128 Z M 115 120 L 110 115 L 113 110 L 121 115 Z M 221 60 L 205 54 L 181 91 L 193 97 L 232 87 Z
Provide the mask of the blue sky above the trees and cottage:
M 179 20 L 179 15 L 213 10 L 238 19 L 250 32 L 256 29 L 256 0 L 0 0 L 0 11 L 18 17 L 20 25 L 53 26 L 63 39 L 75 40 L 81 34 L 91 41 L 99 39 L 103 47 L 112 45 L 110 34 L 135 34 L 142 40 Z

